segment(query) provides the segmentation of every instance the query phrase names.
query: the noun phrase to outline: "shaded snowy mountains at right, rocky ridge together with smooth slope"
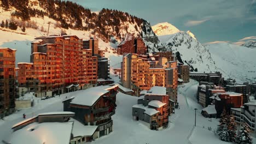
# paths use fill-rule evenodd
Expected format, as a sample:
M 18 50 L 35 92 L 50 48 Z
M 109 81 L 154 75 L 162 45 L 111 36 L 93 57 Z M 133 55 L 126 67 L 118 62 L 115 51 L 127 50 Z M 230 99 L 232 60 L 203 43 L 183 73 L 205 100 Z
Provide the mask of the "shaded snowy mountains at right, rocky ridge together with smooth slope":
M 165 46 L 162 51 L 180 53 L 182 61 L 200 72 L 220 71 L 225 79 L 232 77 L 238 82 L 256 80 L 256 62 L 253 57 L 256 49 L 253 41 L 245 46 L 228 43 L 202 45 L 190 32 L 178 32 L 171 35 L 160 35 L 160 42 Z

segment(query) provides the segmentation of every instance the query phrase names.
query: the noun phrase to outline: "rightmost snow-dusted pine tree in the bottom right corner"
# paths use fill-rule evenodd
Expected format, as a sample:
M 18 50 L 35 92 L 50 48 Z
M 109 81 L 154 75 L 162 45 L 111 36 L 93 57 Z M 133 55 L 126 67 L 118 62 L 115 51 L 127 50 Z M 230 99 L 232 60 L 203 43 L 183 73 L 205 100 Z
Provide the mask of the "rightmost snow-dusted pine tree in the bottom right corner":
M 241 129 L 238 130 L 236 136 L 236 143 L 239 144 L 252 144 L 252 137 L 250 135 L 250 129 L 246 123 L 242 123 Z

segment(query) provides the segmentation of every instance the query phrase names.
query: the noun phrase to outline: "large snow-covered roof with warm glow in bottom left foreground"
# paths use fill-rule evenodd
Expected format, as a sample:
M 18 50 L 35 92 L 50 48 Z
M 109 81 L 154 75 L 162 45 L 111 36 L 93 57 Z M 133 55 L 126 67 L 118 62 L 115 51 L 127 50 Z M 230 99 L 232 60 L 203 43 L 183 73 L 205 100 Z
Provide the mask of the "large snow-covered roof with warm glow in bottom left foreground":
M 68 144 L 72 133 L 73 122 L 32 123 L 26 127 L 14 131 L 9 143 L 27 144 Z

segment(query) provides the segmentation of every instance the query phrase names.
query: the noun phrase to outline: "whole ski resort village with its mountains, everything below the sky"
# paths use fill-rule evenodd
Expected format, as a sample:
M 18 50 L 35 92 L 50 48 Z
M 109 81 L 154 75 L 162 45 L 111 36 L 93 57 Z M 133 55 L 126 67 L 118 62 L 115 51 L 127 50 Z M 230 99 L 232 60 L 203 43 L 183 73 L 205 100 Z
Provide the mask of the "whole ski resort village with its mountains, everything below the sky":
M 0 25 L 0 143 L 256 143 L 253 40 L 54 0 L 1 0 Z

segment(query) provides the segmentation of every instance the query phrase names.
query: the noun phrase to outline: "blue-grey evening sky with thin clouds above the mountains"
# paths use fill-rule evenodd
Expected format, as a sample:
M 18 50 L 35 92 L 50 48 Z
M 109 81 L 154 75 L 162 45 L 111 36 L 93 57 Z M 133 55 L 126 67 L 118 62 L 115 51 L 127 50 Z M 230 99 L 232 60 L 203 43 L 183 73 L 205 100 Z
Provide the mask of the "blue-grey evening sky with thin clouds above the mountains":
M 126 11 L 155 25 L 190 30 L 201 43 L 256 40 L 256 0 L 72 0 L 92 11 Z

